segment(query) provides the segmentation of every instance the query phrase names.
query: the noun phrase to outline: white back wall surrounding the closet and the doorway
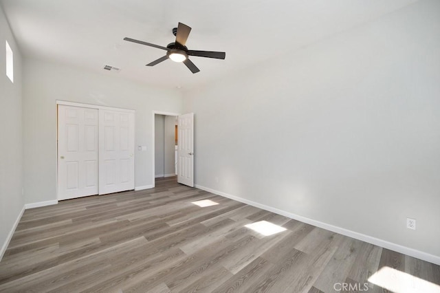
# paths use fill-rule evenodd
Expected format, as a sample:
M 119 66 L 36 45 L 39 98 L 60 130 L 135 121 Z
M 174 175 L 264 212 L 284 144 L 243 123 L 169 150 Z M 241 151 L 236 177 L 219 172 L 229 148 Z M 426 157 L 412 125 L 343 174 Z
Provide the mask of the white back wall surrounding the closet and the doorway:
M 56 199 L 56 100 L 135 109 L 135 186 L 153 182 L 153 111 L 180 112 L 178 91 L 155 88 L 118 77 L 26 59 L 23 127 L 25 202 Z M 136 147 L 137 149 L 137 147 Z

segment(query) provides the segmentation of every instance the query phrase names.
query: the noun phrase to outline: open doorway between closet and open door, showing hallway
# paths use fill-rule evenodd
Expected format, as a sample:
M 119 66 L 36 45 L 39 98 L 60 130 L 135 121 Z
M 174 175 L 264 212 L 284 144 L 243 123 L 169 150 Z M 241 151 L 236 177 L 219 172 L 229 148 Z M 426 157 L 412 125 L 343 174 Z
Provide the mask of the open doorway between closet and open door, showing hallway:
M 177 116 L 155 113 L 154 177 L 177 175 Z

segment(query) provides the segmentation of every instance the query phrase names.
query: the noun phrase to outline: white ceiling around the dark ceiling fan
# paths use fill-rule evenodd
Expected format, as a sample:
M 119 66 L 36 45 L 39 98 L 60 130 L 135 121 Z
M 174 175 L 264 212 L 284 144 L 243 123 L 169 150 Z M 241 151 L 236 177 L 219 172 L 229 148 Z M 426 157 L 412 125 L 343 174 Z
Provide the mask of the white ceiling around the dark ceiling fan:
M 0 0 L 22 54 L 189 89 L 372 21 L 417 0 Z M 177 23 L 192 28 L 190 50 L 226 52 L 225 60 L 191 57 L 201 72 L 167 60 Z M 118 73 L 102 69 L 120 67 Z

